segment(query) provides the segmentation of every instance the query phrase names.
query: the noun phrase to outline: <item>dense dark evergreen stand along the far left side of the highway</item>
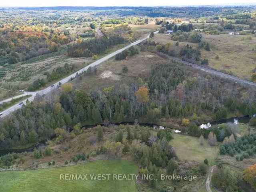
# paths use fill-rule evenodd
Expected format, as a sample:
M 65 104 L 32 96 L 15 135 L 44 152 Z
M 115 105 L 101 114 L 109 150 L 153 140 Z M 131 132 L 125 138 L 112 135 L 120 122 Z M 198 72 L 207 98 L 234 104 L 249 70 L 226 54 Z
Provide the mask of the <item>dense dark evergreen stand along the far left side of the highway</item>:
M 107 48 L 124 42 L 124 38 L 117 34 L 109 37 L 93 38 L 68 48 L 68 55 L 72 57 L 90 57 L 94 54 L 99 55 L 104 53 Z

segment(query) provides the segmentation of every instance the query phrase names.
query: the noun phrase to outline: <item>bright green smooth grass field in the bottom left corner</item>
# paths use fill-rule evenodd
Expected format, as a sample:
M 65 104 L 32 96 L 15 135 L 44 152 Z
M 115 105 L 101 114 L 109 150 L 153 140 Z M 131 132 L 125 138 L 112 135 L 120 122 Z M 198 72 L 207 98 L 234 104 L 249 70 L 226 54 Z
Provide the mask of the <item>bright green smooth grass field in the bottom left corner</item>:
M 97 160 L 61 168 L 0 172 L 1 192 L 137 192 L 135 180 L 90 180 L 89 174 L 137 174 L 126 160 Z M 88 180 L 60 180 L 60 174 L 88 174 Z

